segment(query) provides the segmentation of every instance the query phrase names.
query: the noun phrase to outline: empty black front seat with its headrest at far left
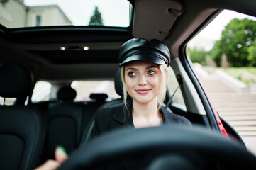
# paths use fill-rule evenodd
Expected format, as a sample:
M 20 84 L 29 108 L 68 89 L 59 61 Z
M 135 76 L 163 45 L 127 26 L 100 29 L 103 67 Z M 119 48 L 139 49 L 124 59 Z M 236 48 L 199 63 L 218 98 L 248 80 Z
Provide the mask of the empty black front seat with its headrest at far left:
M 26 98 L 33 88 L 30 73 L 18 64 L 0 67 L 0 96 Z M 0 106 L 0 169 L 34 169 L 40 162 L 45 116 L 29 106 Z

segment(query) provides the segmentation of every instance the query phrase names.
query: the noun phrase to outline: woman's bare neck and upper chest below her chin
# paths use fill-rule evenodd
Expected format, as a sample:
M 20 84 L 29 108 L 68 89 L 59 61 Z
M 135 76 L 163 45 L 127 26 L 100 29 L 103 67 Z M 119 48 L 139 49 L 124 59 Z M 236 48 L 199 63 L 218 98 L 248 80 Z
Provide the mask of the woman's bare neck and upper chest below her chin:
M 162 114 L 157 108 L 157 98 L 147 104 L 133 101 L 132 115 L 135 128 L 158 126 L 162 124 Z

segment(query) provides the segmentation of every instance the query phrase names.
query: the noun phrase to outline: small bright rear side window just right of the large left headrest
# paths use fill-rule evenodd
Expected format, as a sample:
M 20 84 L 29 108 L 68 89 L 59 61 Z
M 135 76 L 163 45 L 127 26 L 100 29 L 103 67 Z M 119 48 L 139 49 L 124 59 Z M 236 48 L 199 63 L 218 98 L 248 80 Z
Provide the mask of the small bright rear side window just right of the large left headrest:
M 47 81 L 37 81 L 33 90 L 32 102 L 50 101 L 50 92 L 52 84 Z

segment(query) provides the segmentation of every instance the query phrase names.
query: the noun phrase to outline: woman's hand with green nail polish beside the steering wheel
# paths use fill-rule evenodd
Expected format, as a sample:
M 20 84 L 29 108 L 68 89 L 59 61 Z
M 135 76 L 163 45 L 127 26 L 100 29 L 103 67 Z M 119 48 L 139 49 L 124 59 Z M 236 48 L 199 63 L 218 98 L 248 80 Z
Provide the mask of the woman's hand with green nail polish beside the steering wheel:
M 61 146 L 57 146 L 55 150 L 55 160 L 48 160 L 35 170 L 54 170 L 57 169 L 62 162 L 65 162 L 65 160 L 68 158 L 67 152 L 65 149 Z

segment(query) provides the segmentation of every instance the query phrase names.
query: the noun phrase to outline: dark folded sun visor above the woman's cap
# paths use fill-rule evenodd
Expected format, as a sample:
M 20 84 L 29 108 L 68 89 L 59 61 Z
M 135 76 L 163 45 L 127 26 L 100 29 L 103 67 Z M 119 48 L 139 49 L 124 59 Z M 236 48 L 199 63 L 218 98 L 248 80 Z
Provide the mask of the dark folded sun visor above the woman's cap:
M 135 1 L 133 35 L 147 40 L 165 40 L 184 8 L 175 0 Z

